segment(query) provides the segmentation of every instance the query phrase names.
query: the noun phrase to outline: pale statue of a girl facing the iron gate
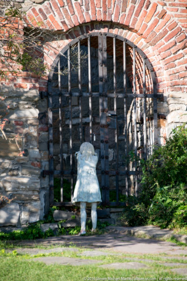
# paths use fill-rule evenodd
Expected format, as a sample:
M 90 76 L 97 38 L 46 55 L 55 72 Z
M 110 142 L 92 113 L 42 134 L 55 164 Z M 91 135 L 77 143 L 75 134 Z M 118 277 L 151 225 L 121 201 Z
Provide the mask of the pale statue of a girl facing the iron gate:
M 86 206 L 91 206 L 92 232 L 97 227 L 97 204 L 101 200 L 101 192 L 96 174 L 97 153 L 90 142 L 83 142 L 77 156 L 77 182 L 72 203 L 81 207 L 81 232 L 86 233 Z

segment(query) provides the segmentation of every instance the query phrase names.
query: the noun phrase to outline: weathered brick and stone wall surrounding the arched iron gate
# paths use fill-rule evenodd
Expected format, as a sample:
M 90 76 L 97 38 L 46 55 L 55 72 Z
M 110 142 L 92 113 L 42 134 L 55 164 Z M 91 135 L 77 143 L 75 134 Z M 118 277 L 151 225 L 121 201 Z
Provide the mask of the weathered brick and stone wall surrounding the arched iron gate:
M 49 70 L 72 39 L 94 31 L 119 34 L 141 48 L 152 64 L 157 93 L 164 94 L 158 101 L 160 135 L 168 137 L 173 127 L 187 121 L 186 0 L 19 0 L 18 4 L 35 27 L 42 22 L 44 28 L 65 34 L 58 44 L 44 46 Z M 0 226 L 35 222 L 49 208 L 48 176 L 41 176 L 48 169 L 47 101 L 39 94 L 47 91 L 47 80 L 27 72 L 18 76 L 7 72 L 0 80 L 0 115 L 7 119 L 7 140 L 0 133 L 0 193 L 13 198 L 0 209 Z

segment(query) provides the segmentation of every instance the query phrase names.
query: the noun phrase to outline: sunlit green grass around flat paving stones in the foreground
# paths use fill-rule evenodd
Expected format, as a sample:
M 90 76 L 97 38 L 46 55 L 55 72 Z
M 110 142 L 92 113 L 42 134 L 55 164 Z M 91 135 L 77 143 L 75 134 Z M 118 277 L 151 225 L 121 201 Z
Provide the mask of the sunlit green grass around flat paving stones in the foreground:
M 54 246 L 53 246 L 54 247 Z M 35 256 L 20 255 L 16 251 L 7 253 L 5 250 L 0 251 L 0 281 L 78 281 L 78 280 L 123 280 L 121 278 L 179 278 L 183 277 L 181 274 L 176 274 L 170 271 L 171 267 L 166 266 L 164 263 L 166 259 L 164 255 L 135 255 L 135 254 L 117 254 L 98 257 L 82 256 L 83 248 L 76 248 L 77 252 L 65 250 L 61 253 L 40 254 Z M 87 249 L 91 250 L 91 249 Z M 93 249 L 92 249 L 93 250 Z M 54 249 L 55 251 L 55 249 Z M 100 250 L 103 251 L 103 250 Z M 111 253 L 112 254 L 112 253 Z M 46 265 L 42 262 L 33 261 L 32 258 L 37 257 L 70 257 L 82 259 L 97 259 L 100 262 L 96 265 Z M 110 264 L 114 262 L 129 262 L 134 261 L 133 258 L 150 259 L 152 262 L 141 261 L 147 265 L 141 269 L 108 269 L 101 268 L 101 264 Z M 172 258 L 169 262 L 187 263 L 187 260 Z M 176 266 L 173 266 L 173 268 Z M 113 278 L 113 279 L 112 279 Z M 115 278 L 115 279 L 114 279 Z M 124 279 L 125 280 L 125 279 Z

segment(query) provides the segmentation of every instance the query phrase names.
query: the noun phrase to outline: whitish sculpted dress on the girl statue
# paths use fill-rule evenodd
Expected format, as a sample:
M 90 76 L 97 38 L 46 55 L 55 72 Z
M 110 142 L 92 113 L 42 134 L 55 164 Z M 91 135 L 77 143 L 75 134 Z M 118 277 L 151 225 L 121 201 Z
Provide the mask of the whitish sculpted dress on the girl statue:
M 92 155 L 88 160 L 81 159 L 81 152 L 77 152 L 77 182 L 75 185 L 72 203 L 86 202 L 91 205 L 92 202 L 98 204 L 101 200 L 101 192 L 96 174 L 96 165 L 98 162 L 97 155 Z

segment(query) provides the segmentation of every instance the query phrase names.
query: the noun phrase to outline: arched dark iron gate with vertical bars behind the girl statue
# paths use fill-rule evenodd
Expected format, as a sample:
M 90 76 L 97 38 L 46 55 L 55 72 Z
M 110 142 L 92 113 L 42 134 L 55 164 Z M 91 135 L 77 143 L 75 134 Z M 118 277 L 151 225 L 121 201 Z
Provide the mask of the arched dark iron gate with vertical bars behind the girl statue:
M 71 47 L 75 45 L 78 54 L 77 88 L 73 87 L 71 67 Z M 87 68 L 84 67 L 84 69 L 81 67 L 82 46 L 87 53 Z M 92 58 L 92 49 L 97 50 L 94 59 Z M 61 75 L 61 70 L 65 69 L 62 65 L 63 57 L 67 57 L 66 76 Z M 136 90 L 137 57 L 142 61 L 142 90 L 138 93 Z M 119 58 L 119 62 L 117 58 Z M 131 59 L 131 81 L 127 75 L 127 59 L 128 68 Z M 94 70 L 97 69 L 98 72 L 96 71 L 97 74 L 94 74 L 92 63 L 96 65 L 96 60 L 98 60 L 97 67 Z M 111 60 L 113 61 L 112 68 Z M 109 72 L 111 69 L 112 78 Z M 87 73 L 86 89 L 82 83 L 85 72 Z M 98 76 L 96 91 L 93 89 L 95 86 L 92 83 L 92 78 L 95 79 L 94 75 Z M 122 80 L 120 83 L 123 84 L 122 89 L 117 89 L 119 75 Z M 151 91 L 147 93 L 148 75 L 150 76 Z M 108 85 L 111 84 L 111 81 L 109 79 L 112 80 L 113 84 L 110 91 Z M 133 150 L 137 156 L 140 149 L 144 152 L 143 157 L 146 159 L 150 147 L 157 143 L 157 98 L 161 96 L 156 93 L 155 76 L 143 51 L 121 36 L 101 32 L 85 34 L 62 49 L 53 63 L 48 82 L 49 171 L 43 171 L 43 175 L 49 175 L 50 204 L 59 206 L 71 204 L 70 200 L 73 197 L 77 173 L 74 154 L 84 141 L 90 141 L 98 152 L 97 174 L 103 203 L 106 205 L 123 204 L 119 202 L 119 192 L 128 195 L 132 185 L 135 195 L 138 196 L 139 170 L 136 161 L 130 163 L 127 159 L 130 150 Z M 141 121 L 137 117 L 137 106 L 140 102 Z M 151 108 L 147 104 L 152 104 Z M 86 107 L 87 116 L 83 113 Z M 74 120 L 75 108 L 79 111 L 76 121 Z M 150 109 L 152 115 L 150 115 Z M 97 122 L 94 121 L 96 119 Z M 151 133 L 148 134 L 148 131 Z M 139 133 L 141 133 L 140 140 L 137 139 Z M 54 134 L 57 135 L 55 138 L 59 140 L 58 143 L 54 141 Z M 67 135 L 68 140 L 65 139 Z M 77 135 L 78 141 L 74 140 L 75 135 Z M 129 140 L 131 140 L 131 144 Z M 140 142 L 143 144 L 140 145 Z M 57 159 L 55 150 L 58 147 L 59 158 L 58 168 L 56 168 L 57 165 L 56 167 L 54 165 Z M 68 151 L 66 150 L 65 153 L 64 147 L 65 149 L 68 147 Z M 112 157 L 111 152 L 113 153 Z M 65 157 L 68 159 L 67 166 Z M 58 203 L 54 203 L 54 176 L 61 179 L 61 202 Z M 71 199 L 69 202 L 64 202 L 63 198 L 64 178 L 68 178 L 70 182 Z M 114 192 L 114 188 L 116 202 L 109 202 L 110 191 L 112 189 Z

